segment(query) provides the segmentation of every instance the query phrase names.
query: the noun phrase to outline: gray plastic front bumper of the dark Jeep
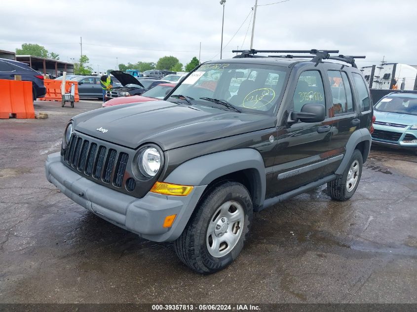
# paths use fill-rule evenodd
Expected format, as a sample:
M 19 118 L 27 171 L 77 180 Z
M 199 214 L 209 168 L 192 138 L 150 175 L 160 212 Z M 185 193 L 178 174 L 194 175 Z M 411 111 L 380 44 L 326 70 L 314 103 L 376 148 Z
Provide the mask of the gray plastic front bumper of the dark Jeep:
M 46 178 L 62 193 L 87 210 L 123 229 L 155 242 L 174 241 L 183 232 L 207 185 L 194 186 L 188 196 L 149 192 L 138 199 L 80 176 L 61 162 L 60 153 L 48 156 Z M 171 228 L 164 228 L 168 215 L 176 214 Z

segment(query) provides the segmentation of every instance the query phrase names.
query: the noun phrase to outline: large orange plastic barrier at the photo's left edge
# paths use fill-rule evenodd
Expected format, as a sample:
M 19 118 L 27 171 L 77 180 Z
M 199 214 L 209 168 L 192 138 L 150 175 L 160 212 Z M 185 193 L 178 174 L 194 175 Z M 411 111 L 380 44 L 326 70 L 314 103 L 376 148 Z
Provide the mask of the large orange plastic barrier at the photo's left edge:
M 0 79 L 0 119 L 35 118 L 32 82 Z

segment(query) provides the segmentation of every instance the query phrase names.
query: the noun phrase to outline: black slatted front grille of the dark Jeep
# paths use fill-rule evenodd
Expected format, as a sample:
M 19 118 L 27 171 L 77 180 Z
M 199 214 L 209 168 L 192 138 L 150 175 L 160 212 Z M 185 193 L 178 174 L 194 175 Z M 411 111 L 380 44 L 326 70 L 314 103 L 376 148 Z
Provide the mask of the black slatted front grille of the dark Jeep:
M 101 179 L 120 188 L 126 171 L 129 155 L 107 148 L 73 135 L 68 148 L 64 151 L 64 162 L 87 176 Z M 113 176 L 114 175 L 114 176 Z

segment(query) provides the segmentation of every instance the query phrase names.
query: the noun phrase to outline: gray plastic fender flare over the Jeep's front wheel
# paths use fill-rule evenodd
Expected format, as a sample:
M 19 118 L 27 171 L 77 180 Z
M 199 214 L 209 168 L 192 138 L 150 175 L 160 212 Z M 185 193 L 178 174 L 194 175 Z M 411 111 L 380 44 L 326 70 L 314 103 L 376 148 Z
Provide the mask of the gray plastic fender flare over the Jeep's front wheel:
M 207 185 L 223 175 L 249 170 L 254 206 L 264 204 L 266 191 L 265 164 L 252 148 L 233 149 L 191 159 L 170 173 L 165 182 L 183 185 Z

